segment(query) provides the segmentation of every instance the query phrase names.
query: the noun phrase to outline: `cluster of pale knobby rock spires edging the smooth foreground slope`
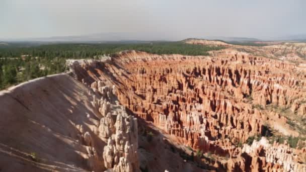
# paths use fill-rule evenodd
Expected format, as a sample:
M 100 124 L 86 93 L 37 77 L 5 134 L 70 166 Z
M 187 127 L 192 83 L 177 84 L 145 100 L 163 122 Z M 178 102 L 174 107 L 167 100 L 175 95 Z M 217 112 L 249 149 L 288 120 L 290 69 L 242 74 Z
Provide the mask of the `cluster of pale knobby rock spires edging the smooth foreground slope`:
M 74 61 L 70 68 L 76 68 L 78 61 Z M 77 66 L 75 66 L 77 65 Z M 84 79 L 82 79 L 84 80 Z M 101 116 L 100 123 L 97 127 L 92 128 L 99 138 L 107 143 L 102 152 L 104 167 L 114 171 L 139 171 L 139 162 L 137 157 L 137 119 L 128 115 L 125 108 L 119 105 L 114 87 L 110 87 L 103 81 L 94 81 L 90 86 L 89 95 L 93 97 L 91 102 L 97 116 Z M 89 132 L 84 134 L 84 140 L 91 150 L 97 149 L 91 139 Z M 98 143 L 97 143 L 98 144 Z M 93 153 L 95 156 L 95 153 Z M 89 157 L 92 157 L 90 154 Z M 96 158 L 97 159 L 97 158 Z M 99 159 L 99 158 L 98 158 Z M 102 163 L 95 158 L 89 158 L 88 163 Z M 93 169 L 95 169 L 93 167 Z

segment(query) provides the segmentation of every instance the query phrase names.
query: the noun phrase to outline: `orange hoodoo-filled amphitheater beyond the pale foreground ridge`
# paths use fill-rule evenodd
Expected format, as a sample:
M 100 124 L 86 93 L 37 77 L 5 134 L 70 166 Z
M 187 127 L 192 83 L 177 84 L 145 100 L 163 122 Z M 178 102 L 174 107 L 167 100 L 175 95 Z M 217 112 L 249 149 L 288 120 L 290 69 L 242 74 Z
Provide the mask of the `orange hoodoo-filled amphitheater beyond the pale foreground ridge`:
M 305 115 L 305 74 L 294 63 L 224 50 L 213 56 L 125 51 L 103 62 L 74 66 L 78 66 L 73 69 L 78 80 L 102 95 L 101 82 L 114 85 L 113 94 L 120 104 L 161 131 L 182 139 L 184 145 L 229 156 L 215 163 L 220 168 L 305 169 L 304 160 L 293 158 L 294 151 L 280 145 L 263 143 L 258 147 L 255 142 L 243 149 L 237 146 L 251 136 L 265 135 L 267 126 L 284 135 L 301 134 L 273 109 L 291 107 L 293 115 Z M 100 113 L 105 114 L 107 104 L 100 106 Z M 109 144 L 113 145 L 111 141 Z M 279 151 L 275 154 L 274 150 Z M 288 159 L 290 162 L 285 163 Z

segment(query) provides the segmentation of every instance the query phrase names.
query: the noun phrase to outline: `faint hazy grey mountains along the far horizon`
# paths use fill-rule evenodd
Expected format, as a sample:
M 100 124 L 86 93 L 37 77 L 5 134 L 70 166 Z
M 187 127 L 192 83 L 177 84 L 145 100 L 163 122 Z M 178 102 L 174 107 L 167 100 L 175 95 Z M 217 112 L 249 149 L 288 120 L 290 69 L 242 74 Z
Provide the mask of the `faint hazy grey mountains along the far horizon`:
M 88 34 L 80 36 L 54 36 L 45 38 L 26 38 L 26 39 L 4 39 L 0 41 L 4 42 L 94 42 L 94 43 L 107 43 L 107 42 L 122 42 L 122 43 L 142 43 L 149 41 L 174 41 L 177 38 L 175 35 L 165 35 L 164 40 L 161 40 L 162 33 L 126 33 L 126 32 L 110 32 L 110 33 L 98 33 L 98 34 Z M 247 37 L 224 37 L 224 36 L 204 36 L 197 37 L 208 40 L 222 40 L 222 41 L 272 41 L 272 40 L 287 40 L 287 41 L 306 41 L 306 34 L 303 35 L 291 35 L 283 37 L 275 37 L 270 39 L 257 39 L 257 38 L 247 38 Z

